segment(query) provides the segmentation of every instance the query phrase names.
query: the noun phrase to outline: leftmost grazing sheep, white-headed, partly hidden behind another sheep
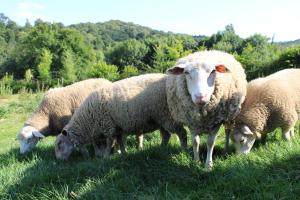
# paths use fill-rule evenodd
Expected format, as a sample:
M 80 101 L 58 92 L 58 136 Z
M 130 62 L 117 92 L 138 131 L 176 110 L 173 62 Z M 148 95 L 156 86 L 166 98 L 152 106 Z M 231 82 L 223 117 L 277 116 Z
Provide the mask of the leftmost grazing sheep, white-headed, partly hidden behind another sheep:
M 20 153 L 31 151 L 44 137 L 58 135 L 83 100 L 96 88 L 110 83 L 105 79 L 88 79 L 48 90 L 38 108 L 17 133 Z

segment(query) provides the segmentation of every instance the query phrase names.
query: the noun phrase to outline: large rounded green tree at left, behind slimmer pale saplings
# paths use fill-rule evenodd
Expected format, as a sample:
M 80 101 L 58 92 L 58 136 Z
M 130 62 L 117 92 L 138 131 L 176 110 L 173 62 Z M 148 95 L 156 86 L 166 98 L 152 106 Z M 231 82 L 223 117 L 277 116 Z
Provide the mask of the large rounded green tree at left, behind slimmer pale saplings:
M 16 65 L 10 66 L 17 78 L 23 77 L 28 66 L 37 69 L 43 49 L 49 50 L 52 55 L 50 71 L 53 78 L 59 78 L 61 75 L 61 61 L 66 49 L 72 54 L 74 70 L 78 71 L 80 78 L 83 78 L 85 68 L 95 62 L 95 52 L 77 30 L 65 28 L 61 24 L 38 20 L 34 27 L 20 34 L 20 41 L 15 50 L 16 56 L 12 62 Z M 71 78 L 73 79 L 74 77 Z

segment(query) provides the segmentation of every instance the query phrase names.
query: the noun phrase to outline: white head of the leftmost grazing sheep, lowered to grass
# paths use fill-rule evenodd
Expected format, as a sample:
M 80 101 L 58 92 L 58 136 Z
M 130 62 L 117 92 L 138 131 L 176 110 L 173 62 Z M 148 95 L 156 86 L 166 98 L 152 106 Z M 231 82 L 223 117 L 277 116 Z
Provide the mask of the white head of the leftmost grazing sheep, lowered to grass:
M 36 128 L 24 126 L 17 134 L 17 140 L 20 143 L 20 153 L 24 154 L 31 151 L 37 142 L 44 137 Z

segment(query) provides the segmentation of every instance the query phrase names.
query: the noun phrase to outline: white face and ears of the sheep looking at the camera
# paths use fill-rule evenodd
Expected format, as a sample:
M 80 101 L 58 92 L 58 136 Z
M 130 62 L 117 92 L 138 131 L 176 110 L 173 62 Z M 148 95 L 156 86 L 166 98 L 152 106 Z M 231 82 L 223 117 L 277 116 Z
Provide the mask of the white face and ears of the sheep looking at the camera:
M 216 73 L 225 73 L 228 69 L 222 64 L 208 62 L 187 61 L 177 65 L 167 71 L 168 74 L 185 74 L 187 88 L 192 101 L 195 104 L 205 104 L 215 90 Z

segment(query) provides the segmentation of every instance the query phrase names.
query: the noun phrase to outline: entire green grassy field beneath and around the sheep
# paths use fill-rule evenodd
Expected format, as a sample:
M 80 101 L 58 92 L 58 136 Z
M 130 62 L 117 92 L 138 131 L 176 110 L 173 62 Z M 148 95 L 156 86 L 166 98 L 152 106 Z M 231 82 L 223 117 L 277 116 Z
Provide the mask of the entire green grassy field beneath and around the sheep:
M 192 161 L 190 141 L 187 152 L 173 137 L 160 147 L 158 133 L 146 136 L 143 150 L 129 138 L 125 156 L 83 160 L 75 153 L 61 162 L 55 160 L 53 137 L 19 154 L 16 132 L 41 97 L 0 97 L 0 199 L 300 199 L 298 131 L 291 143 L 275 131 L 248 156 L 235 155 L 232 147 L 223 156 L 221 131 L 212 172 L 204 169 L 205 136 L 199 163 Z

